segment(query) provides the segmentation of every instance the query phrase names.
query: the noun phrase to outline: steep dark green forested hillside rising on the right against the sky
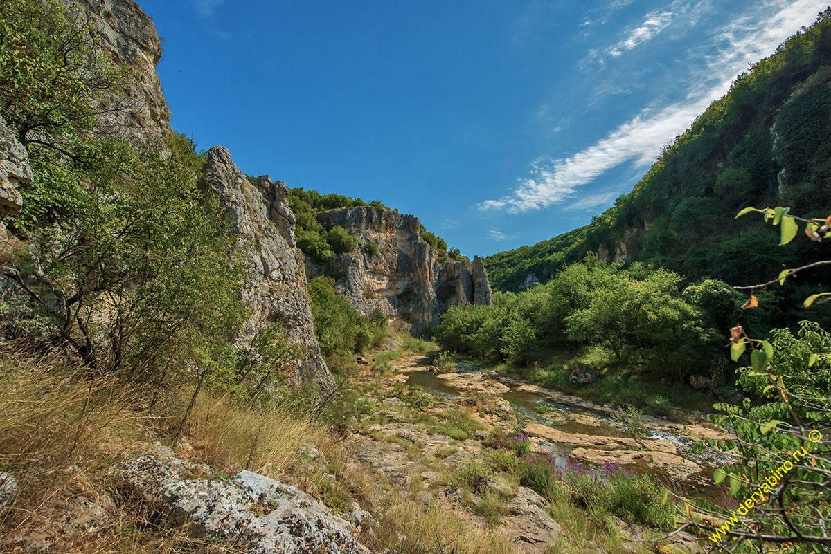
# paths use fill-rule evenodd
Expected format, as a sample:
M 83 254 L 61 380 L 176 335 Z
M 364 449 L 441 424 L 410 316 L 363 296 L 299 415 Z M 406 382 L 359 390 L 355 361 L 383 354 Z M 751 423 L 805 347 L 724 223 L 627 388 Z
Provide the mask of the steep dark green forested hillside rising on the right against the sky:
M 640 260 L 730 284 L 767 280 L 770 265 L 827 258 L 758 218 L 733 221 L 741 207 L 831 209 L 831 8 L 773 55 L 740 75 L 615 205 L 586 227 L 484 259 L 495 289 L 516 290 L 529 273 L 543 282 L 587 251 Z M 805 275 L 803 284 L 825 275 Z

